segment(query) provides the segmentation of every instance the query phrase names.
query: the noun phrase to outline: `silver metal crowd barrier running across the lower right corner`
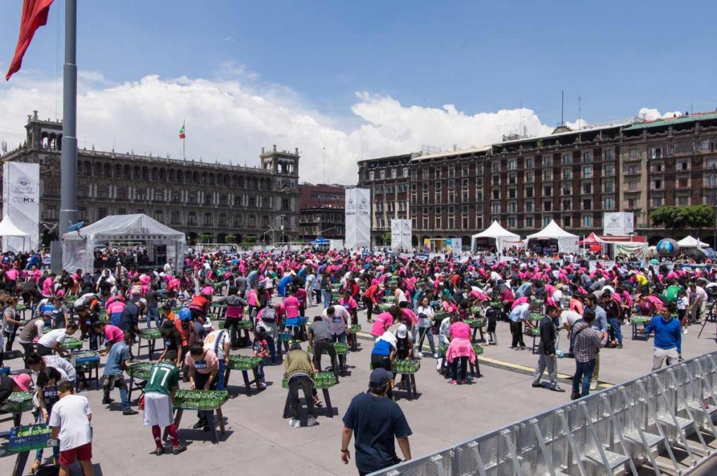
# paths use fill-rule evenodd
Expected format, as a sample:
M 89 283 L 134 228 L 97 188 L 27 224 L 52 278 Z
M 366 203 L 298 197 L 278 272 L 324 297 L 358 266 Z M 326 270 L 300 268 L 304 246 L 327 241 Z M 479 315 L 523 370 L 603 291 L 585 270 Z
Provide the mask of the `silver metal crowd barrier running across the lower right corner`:
M 372 475 L 687 475 L 717 451 L 716 392 L 713 352 Z

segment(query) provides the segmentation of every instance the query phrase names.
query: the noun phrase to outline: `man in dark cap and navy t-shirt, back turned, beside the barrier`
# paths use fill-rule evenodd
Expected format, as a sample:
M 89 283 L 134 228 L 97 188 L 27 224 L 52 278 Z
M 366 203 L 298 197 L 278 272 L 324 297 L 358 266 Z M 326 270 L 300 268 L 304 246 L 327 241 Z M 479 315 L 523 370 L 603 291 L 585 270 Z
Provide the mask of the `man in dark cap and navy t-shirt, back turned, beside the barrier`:
M 341 432 L 341 461 L 348 465 L 351 451 L 348 444 L 354 437 L 356 469 L 359 475 L 380 471 L 401 460 L 396 454 L 394 439 L 398 442 L 404 460 L 411 459 L 411 427 L 399 406 L 386 398 L 393 374 L 376 368 L 369 376 L 369 391 L 351 399 L 343 415 Z

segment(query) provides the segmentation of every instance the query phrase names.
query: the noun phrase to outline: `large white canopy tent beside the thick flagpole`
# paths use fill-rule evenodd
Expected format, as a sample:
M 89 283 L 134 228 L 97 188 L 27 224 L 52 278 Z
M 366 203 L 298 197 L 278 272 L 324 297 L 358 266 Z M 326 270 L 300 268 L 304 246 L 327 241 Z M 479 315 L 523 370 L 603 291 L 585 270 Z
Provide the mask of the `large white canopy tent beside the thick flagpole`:
M 92 270 L 96 247 L 110 242 L 143 242 L 148 251 L 161 247 L 166 259 L 176 265 L 184 262 L 186 238 L 184 233 L 167 227 L 145 214 L 110 215 L 99 222 L 62 236 L 62 269 Z

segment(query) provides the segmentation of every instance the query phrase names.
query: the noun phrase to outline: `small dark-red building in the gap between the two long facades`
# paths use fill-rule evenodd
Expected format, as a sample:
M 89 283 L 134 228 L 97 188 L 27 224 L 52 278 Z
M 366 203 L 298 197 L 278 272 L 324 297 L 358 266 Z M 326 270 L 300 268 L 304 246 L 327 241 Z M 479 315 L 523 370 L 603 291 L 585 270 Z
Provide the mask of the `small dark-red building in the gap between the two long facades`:
M 299 186 L 299 239 L 344 239 L 346 188 L 338 185 Z

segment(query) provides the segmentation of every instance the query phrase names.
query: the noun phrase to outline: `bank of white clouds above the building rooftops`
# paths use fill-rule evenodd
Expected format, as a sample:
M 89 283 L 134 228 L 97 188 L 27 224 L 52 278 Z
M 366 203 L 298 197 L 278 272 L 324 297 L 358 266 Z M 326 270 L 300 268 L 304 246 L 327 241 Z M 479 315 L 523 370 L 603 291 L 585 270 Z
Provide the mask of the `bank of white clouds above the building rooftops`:
M 442 150 L 483 146 L 510 133 L 550 133 L 536 113 L 499 110 L 470 115 L 455 105 L 426 108 L 368 92 L 356 94 L 345 117 L 324 115 L 298 92 L 259 82 L 243 65 L 227 63 L 217 79 L 149 75 L 112 84 L 100 72 L 80 72 L 78 131 L 80 147 L 98 150 L 181 156 L 179 127 L 186 120 L 188 158 L 255 166 L 262 146 L 300 149 L 300 179 L 356 184 L 356 161 L 419 151 L 427 144 Z M 0 87 L 0 140 L 9 148 L 24 141 L 24 124 L 32 110 L 54 115 L 56 82 L 31 75 L 13 77 Z M 59 94 L 62 94 L 60 82 Z M 61 99 L 61 98 L 60 98 Z M 62 105 L 57 108 L 62 113 Z M 659 114 L 643 109 L 642 114 Z M 671 114 L 671 113 L 670 113 Z M 652 116 L 650 116 L 652 117 Z M 359 125 L 356 125 L 358 123 Z M 575 125 L 575 123 L 570 123 Z

